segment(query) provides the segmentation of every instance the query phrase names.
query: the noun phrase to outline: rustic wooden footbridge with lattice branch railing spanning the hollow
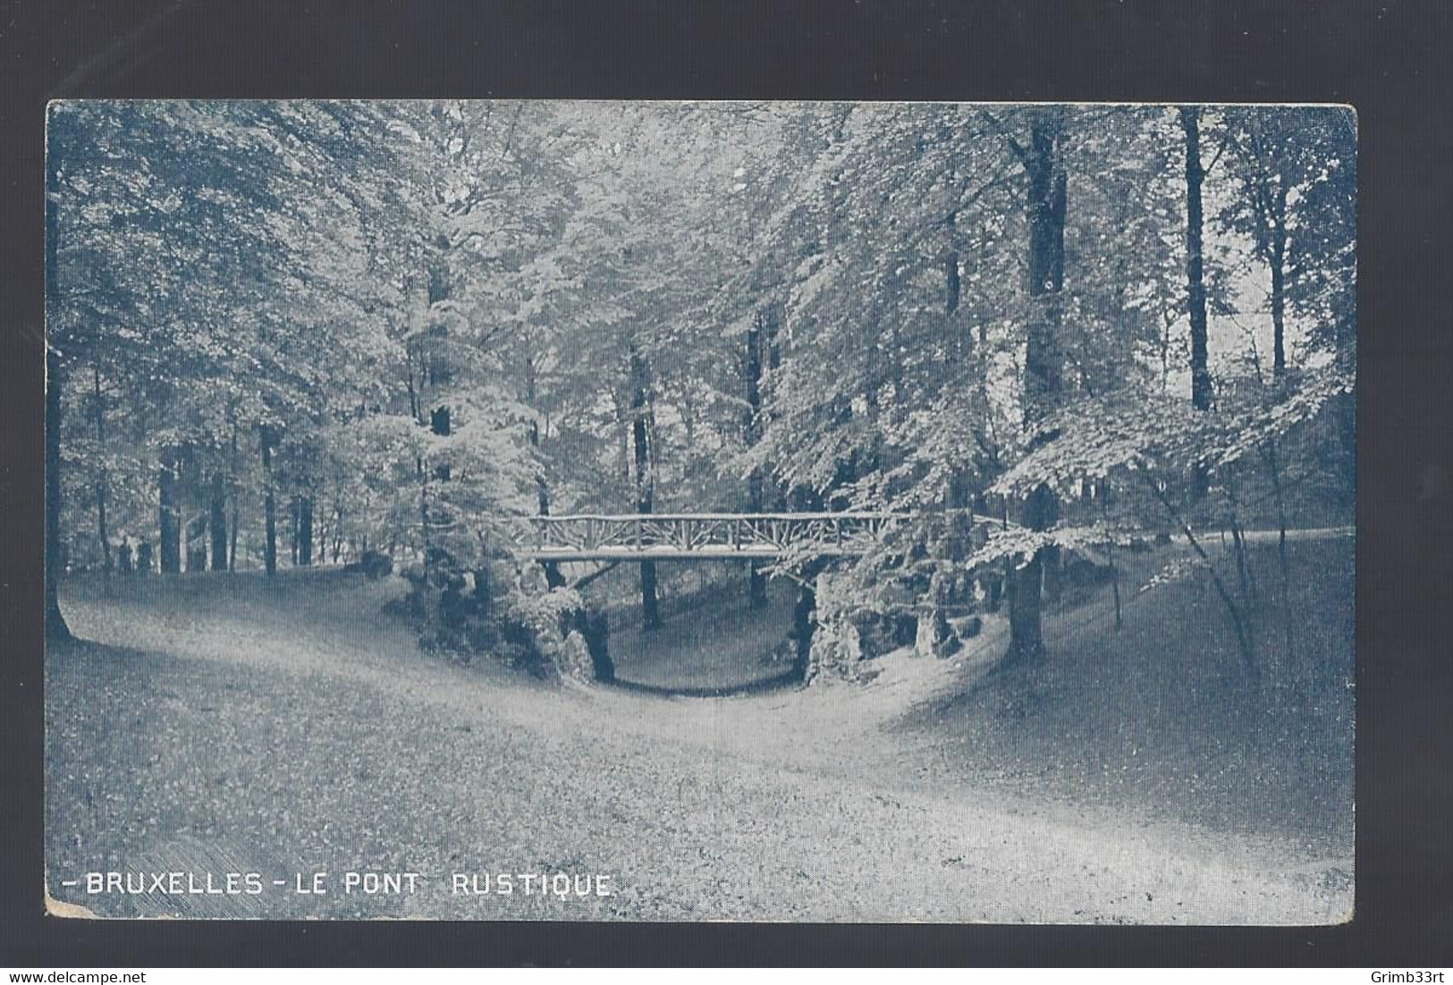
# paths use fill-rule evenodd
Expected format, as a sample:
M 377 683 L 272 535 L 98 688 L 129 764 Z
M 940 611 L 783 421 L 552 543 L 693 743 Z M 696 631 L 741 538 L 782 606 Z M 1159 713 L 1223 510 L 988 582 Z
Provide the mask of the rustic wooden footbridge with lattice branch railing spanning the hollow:
M 863 554 L 914 513 L 629 513 L 530 517 L 536 561 L 776 559 Z M 1001 524 L 971 514 L 974 526 Z

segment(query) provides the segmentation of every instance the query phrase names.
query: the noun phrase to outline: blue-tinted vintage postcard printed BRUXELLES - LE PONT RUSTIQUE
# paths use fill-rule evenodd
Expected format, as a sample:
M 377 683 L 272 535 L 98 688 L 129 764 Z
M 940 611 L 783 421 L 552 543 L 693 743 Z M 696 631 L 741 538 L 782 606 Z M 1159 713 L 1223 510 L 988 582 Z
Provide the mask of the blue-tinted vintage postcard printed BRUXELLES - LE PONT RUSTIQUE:
M 1351 918 L 1351 109 L 46 122 L 52 914 Z

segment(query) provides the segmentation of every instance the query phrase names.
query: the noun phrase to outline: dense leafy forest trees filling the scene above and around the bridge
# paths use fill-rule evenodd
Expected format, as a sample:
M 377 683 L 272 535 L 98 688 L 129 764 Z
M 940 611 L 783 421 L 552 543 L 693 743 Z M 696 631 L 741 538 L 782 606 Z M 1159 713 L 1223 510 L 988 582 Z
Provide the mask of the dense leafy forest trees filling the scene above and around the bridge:
M 57 636 L 68 572 L 379 556 L 527 623 L 578 599 L 522 517 L 901 511 L 818 626 L 968 572 L 1035 660 L 1072 556 L 1175 535 L 1257 674 L 1242 533 L 1284 583 L 1353 513 L 1347 109 L 73 102 L 46 231 Z

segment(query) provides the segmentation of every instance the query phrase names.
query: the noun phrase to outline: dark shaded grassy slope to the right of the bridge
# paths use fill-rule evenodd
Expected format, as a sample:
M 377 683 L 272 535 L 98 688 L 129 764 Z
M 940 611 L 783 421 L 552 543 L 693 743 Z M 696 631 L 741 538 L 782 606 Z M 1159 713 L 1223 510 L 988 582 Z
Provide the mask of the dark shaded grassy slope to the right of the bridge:
M 975 783 L 1290 840 L 1344 857 L 1350 872 L 1351 540 L 1289 543 L 1290 654 L 1276 551 L 1258 546 L 1251 559 L 1260 684 L 1239 671 L 1209 580 L 1136 593 L 1133 583 L 1148 581 L 1141 562 L 1123 585 L 1120 631 L 1103 596 L 1059 613 L 1045 667 L 987 674 L 898 726 L 930 744 L 958 732 L 968 750 L 953 771 Z

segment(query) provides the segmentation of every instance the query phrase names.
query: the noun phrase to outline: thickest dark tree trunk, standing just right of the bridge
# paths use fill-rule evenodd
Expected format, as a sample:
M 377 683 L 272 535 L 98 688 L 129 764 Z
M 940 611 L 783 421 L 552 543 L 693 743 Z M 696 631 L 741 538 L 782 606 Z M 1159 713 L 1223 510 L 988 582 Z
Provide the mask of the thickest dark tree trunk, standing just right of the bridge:
M 1024 350 L 1024 424 L 1033 429 L 1055 410 L 1062 389 L 1059 325 L 1065 283 L 1065 170 L 1061 161 L 1062 125 L 1056 110 L 1039 110 L 1024 157 L 1029 177 L 1029 296 L 1030 317 Z M 1059 520 L 1059 501 L 1048 485 L 1026 498 L 1020 523 L 1048 530 Z M 1010 648 L 1014 661 L 1043 655 L 1042 594 L 1046 569 L 1058 568 L 1058 551 L 1040 548 L 1013 571 L 1008 600 Z

